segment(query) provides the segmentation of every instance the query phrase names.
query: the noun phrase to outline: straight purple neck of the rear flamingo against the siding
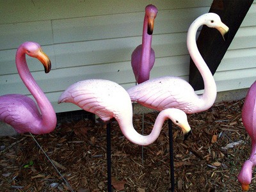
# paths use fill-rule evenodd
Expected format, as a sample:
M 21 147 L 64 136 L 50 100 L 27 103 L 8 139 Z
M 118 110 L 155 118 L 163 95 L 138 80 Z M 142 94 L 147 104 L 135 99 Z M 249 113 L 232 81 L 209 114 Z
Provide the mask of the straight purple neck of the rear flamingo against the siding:
M 149 79 L 149 68 L 150 68 L 150 53 L 151 53 L 151 43 L 152 35 L 147 33 L 148 18 L 145 14 L 143 22 L 143 34 L 142 34 L 142 49 L 140 57 L 140 68 L 138 72 L 138 83 L 142 83 L 145 79 Z

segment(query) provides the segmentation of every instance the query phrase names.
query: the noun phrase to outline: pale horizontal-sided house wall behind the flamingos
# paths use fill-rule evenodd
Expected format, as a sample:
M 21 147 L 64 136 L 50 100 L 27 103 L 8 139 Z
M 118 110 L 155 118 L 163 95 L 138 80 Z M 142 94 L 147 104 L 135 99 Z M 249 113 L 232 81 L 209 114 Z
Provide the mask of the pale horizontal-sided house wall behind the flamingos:
M 56 112 L 79 109 L 57 104 L 70 84 L 84 79 L 109 79 L 134 86 L 131 53 L 141 44 L 147 4 L 157 6 L 152 48 L 156 62 L 150 78 L 179 76 L 188 81 L 186 34 L 199 15 L 209 12 L 212 0 L 201 1 L 0 1 L 0 95 L 29 95 L 15 67 L 22 42 L 35 41 L 51 58 L 44 73 L 39 61 L 28 58 L 37 83 Z M 232 17 L 232 16 L 231 16 Z M 237 31 L 214 79 L 218 92 L 248 88 L 256 74 L 256 1 Z

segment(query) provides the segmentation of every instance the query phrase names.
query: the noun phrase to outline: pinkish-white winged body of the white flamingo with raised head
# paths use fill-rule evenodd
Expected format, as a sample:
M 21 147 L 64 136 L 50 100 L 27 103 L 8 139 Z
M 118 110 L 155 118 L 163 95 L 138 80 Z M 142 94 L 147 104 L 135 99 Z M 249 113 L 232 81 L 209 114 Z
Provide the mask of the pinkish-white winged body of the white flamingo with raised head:
M 127 90 L 131 100 L 148 108 L 162 111 L 168 108 L 191 113 L 195 92 L 188 82 L 179 77 L 160 77 L 138 84 Z M 191 93 L 193 95 L 191 95 Z

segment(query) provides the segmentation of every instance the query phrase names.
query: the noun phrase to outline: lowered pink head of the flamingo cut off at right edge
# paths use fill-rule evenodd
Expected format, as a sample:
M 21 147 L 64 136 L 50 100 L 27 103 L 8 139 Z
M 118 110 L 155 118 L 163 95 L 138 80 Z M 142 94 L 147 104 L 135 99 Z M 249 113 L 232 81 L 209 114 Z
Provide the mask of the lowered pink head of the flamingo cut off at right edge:
M 249 185 L 252 181 L 253 162 L 248 159 L 244 162 L 243 167 L 238 175 L 238 180 L 241 183 L 243 191 L 249 190 Z

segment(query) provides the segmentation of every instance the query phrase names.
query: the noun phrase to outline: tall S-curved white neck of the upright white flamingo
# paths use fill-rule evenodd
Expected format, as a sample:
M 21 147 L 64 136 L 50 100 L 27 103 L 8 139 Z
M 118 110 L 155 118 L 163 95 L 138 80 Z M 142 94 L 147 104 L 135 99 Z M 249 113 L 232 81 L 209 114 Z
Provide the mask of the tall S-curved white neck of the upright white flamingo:
M 187 47 L 192 60 L 194 61 L 196 67 L 198 68 L 204 80 L 204 93 L 203 95 L 199 96 L 200 108 L 202 108 L 202 111 L 204 111 L 206 109 L 211 108 L 212 104 L 214 104 L 214 101 L 216 99 L 216 94 L 217 94 L 217 88 L 216 88 L 216 83 L 214 81 L 212 73 L 209 70 L 208 66 L 206 65 L 196 45 L 196 38 L 195 38 L 196 31 L 200 26 L 202 26 L 201 19 L 202 17 L 199 17 L 189 27 L 188 37 L 187 37 Z

